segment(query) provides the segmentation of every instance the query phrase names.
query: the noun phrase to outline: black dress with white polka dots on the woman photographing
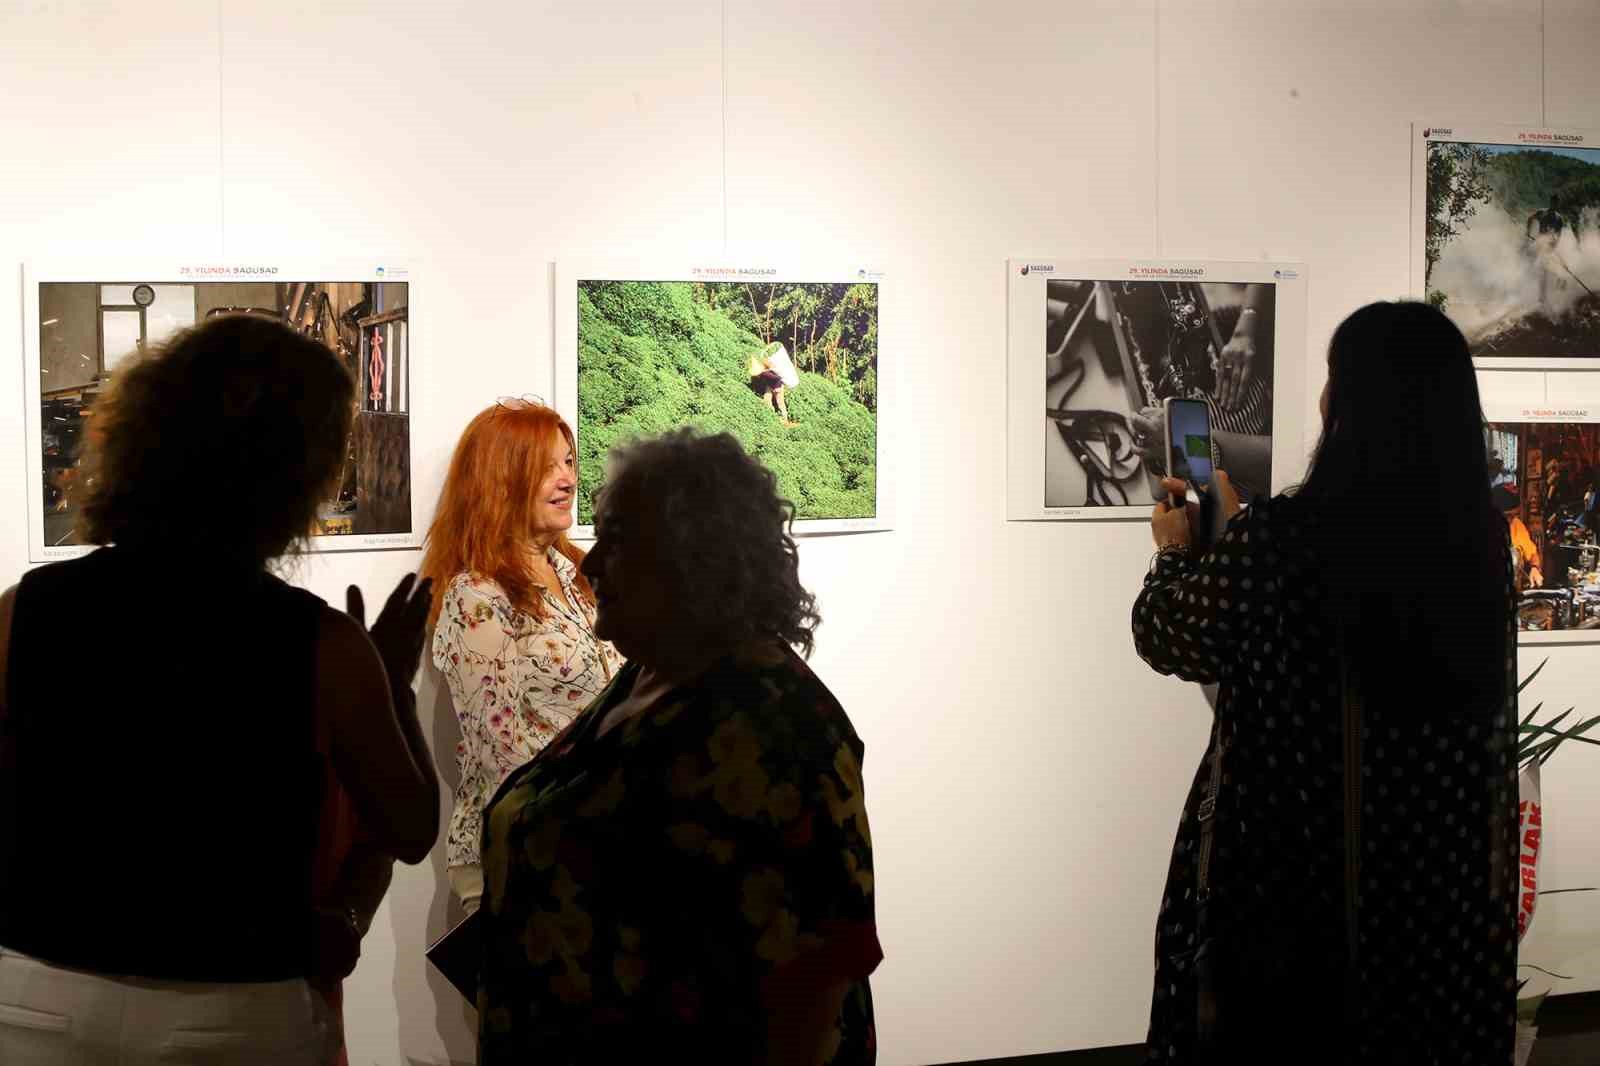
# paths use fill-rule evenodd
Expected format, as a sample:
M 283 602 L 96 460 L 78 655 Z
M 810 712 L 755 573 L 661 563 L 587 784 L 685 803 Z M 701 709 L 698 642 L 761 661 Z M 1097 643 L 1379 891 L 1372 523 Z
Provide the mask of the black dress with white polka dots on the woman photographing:
M 1160 554 L 1134 603 L 1146 663 L 1221 683 L 1213 739 L 1226 739 L 1206 914 L 1224 948 L 1226 1053 L 1206 1060 L 1195 1045 L 1202 757 L 1157 920 L 1147 1061 L 1504 1066 L 1517 900 L 1510 589 L 1504 693 L 1477 709 L 1366 701 L 1347 1039 L 1344 699 L 1315 527 L 1306 501 L 1259 499 L 1205 557 Z

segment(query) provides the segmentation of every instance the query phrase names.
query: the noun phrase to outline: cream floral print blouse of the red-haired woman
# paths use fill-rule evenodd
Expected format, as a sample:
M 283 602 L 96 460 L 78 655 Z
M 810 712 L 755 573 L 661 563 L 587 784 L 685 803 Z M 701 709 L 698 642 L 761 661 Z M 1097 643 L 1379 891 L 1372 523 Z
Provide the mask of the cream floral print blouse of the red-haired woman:
M 446 866 L 478 861 L 483 807 L 501 781 L 560 733 L 622 663 L 594 635 L 595 610 L 578 592 L 578 568 L 554 549 L 547 557 L 566 603 L 541 589 L 542 621 L 512 605 L 488 578 L 459 573 L 445 589 L 434 666 L 461 722 Z

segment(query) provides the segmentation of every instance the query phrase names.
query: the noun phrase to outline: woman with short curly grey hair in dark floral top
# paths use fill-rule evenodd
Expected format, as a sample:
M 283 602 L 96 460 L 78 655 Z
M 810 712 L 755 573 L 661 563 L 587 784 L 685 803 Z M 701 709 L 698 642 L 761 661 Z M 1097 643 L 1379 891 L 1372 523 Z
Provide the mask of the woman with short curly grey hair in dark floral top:
M 613 456 L 582 563 L 629 664 L 483 823 L 480 1061 L 875 1061 L 862 744 L 728 435 Z

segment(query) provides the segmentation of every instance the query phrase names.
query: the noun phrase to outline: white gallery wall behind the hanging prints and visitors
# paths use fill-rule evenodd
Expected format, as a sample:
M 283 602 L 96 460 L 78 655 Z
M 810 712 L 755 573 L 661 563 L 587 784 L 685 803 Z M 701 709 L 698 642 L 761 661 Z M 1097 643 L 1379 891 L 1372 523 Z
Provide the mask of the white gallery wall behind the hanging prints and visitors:
M 550 394 L 552 261 L 883 269 L 896 528 L 802 544 L 813 664 L 867 744 L 880 1061 L 1130 1044 L 1208 707 L 1133 651 L 1144 523 L 1003 520 L 1003 261 L 1304 259 L 1309 415 L 1338 320 L 1406 293 L 1410 123 L 1600 126 L 1597 51 L 1594 0 L 5 0 L 0 271 L 408 258 L 427 512 L 478 408 Z M 3 583 L 27 565 L 19 288 Z M 373 600 L 416 559 L 318 555 L 296 579 Z M 173 600 L 226 623 L 203 575 L 173 575 Z M 118 634 L 86 618 L 77 639 L 93 659 Z M 1600 648 L 1525 669 L 1546 653 L 1538 698 L 1600 712 Z M 438 688 L 424 674 L 448 765 Z M 1600 885 L 1600 751 L 1560 752 L 1546 799 L 1549 887 Z M 146 831 L 150 869 L 109 879 L 187 880 L 176 828 Z M 421 954 L 446 901 L 442 848 L 398 869 L 347 984 L 352 1063 L 474 1060 Z M 1600 893 L 1546 898 L 1523 957 L 1600 989 Z

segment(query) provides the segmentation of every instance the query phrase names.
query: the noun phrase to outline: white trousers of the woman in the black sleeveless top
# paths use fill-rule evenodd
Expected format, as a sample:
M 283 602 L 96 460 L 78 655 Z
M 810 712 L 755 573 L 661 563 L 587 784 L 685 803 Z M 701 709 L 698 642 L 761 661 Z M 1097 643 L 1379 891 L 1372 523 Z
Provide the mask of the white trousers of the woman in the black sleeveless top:
M 5 1066 L 320 1066 L 328 1013 L 304 980 L 154 981 L 0 948 Z

